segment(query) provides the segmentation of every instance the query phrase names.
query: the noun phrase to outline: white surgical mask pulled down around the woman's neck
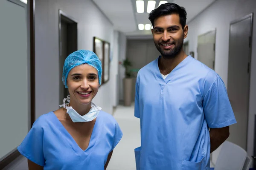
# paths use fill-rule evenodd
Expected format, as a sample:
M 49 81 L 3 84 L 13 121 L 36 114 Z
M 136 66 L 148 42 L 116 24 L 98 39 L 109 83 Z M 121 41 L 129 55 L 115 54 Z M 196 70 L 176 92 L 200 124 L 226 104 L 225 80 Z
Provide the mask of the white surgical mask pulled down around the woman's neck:
M 68 103 L 65 103 L 66 101 Z M 60 105 L 60 107 L 63 106 L 63 108 L 67 109 L 67 113 L 69 114 L 73 122 L 90 122 L 93 119 L 95 119 L 99 115 L 99 112 L 102 110 L 101 107 L 91 102 L 90 111 L 85 115 L 81 116 L 79 113 L 75 111 L 75 109 L 73 109 L 71 106 L 68 106 L 69 103 L 70 103 L 70 96 L 67 96 L 67 98 L 63 99 L 63 105 Z

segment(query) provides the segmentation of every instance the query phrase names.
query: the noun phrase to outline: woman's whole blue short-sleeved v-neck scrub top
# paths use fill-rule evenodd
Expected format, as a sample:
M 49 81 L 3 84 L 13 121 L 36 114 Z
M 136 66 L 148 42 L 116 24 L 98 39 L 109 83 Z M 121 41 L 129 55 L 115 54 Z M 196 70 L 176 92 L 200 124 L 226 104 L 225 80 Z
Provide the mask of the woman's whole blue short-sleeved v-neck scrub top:
M 116 120 L 99 112 L 89 145 L 82 150 L 53 112 L 40 116 L 18 151 L 44 170 L 104 170 L 108 154 L 122 138 Z

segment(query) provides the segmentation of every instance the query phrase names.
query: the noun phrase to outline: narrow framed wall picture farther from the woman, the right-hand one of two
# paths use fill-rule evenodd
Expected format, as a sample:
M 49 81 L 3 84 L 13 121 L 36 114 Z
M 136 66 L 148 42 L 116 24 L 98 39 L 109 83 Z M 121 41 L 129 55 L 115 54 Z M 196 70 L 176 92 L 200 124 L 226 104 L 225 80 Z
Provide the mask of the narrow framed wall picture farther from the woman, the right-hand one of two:
M 110 43 L 104 41 L 104 71 L 103 71 L 103 83 L 108 82 L 110 74 Z M 102 68 L 102 69 L 103 69 Z

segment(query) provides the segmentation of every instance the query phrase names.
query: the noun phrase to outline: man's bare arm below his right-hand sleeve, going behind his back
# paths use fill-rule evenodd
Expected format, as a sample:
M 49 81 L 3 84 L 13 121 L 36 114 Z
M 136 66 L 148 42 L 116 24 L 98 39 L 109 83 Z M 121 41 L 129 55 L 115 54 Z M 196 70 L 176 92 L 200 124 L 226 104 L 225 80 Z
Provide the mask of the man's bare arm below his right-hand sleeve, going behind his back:
M 228 138 L 229 135 L 229 126 L 222 128 L 210 128 L 210 153 L 216 150 Z

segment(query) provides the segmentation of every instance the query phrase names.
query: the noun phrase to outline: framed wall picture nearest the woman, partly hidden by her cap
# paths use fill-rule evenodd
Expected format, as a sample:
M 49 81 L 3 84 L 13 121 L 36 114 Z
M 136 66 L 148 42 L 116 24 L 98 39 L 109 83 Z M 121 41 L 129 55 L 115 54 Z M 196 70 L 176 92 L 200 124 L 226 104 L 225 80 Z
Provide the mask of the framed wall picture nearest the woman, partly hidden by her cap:
M 93 37 L 93 52 L 99 57 L 99 60 L 102 62 L 102 73 L 104 72 L 104 41 L 97 38 Z M 103 75 L 103 74 L 102 74 Z M 103 76 L 101 78 L 101 84 L 103 84 Z

